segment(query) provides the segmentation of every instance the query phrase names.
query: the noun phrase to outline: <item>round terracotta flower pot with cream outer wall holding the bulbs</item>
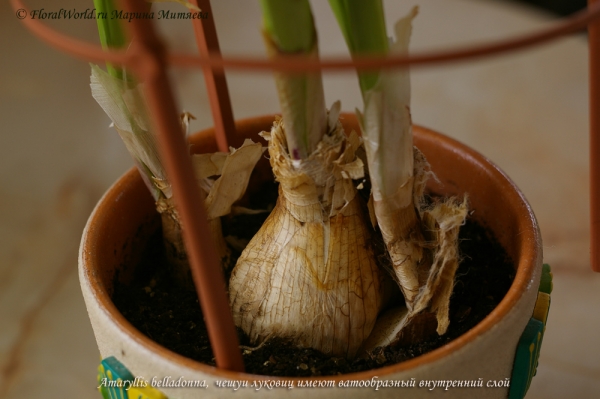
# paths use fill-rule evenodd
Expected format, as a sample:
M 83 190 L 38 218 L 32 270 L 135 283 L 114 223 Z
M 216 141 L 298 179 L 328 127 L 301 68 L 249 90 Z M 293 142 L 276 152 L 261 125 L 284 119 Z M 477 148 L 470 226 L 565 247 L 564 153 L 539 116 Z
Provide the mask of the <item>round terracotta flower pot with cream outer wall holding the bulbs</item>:
M 358 131 L 353 115 L 343 115 L 346 131 Z M 257 139 L 257 133 L 269 130 L 272 116 L 238 123 L 238 135 Z M 279 397 L 331 398 L 338 395 L 378 398 L 431 397 L 437 392 L 444 398 L 506 398 L 508 379 L 513 371 L 519 339 L 532 317 L 542 272 L 541 238 L 535 216 L 519 189 L 485 157 L 439 133 L 414 128 L 418 146 L 439 182 L 431 179 L 430 188 L 446 195 L 469 193 L 473 217 L 489 227 L 509 256 L 515 261 L 516 277 L 501 303 L 476 327 L 430 353 L 412 360 L 372 371 L 319 378 L 270 378 L 218 370 L 180 356 L 153 342 L 136 330 L 111 301 L 115 273 L 129 278 L 140 256 L 144 238 L 157 226 L 153 220 L 153 200 L 138 172 L 130 170 L 100 200 L 85 228 L 81 241 L 79 276 L 92 327 L 102 358 L 114 357 L 132 375 L 151 382 L 170 377 L 171 382 L 205 381 L 207 388 L 158 387 L 168 397 L 196 398 L 253 395 L 260 387 L 255 381 L 269 380 L 261 395 Z M 199 133 L 195 152 L 216 151 L 212 130 Z M 268 164 L 265 162 L 268 167 Z M 265 167 L 265 165 L 261 167 Z M 154 224 L 153 224 L 154 223 Z M 234 391 L 232 380 L 248 381 L 248 387 Z M 227 381 L 227 387 L 217 386 Z M 274 387 L 274 381 L 292 381 L 294 389 Z M 316 381 L 318 388 L 307 392 L 300 384 Z M 349 385 L 358 386 L 348 391 Z M 395 381 L 395 383 L 393 382 Z M 436 388 L 424 385 L 436 381 Z M 462 387 L 446 390 L 439 381 L 462 381 Z M 489 381 L 493 381 L 492 387 Z M 379 382 L 379 383 L 378 383 Z M 464 387 L 469 382 L 469 387 Z M 256 385 L 252 387 L 252 384 Z M 377 385 L 379 389 L 375 392 Z M 387 387 L 396 384 L 395 387 Z M 341 385 L 341 387 L 340 387 Z M 365 387 L 366 385 L 366 387 Z M 411 386 L 414 385 L 414 386 Z M 482 385 L 482 387 L 478 387 Z M 137 396 L 136 396 L 137 397 Z

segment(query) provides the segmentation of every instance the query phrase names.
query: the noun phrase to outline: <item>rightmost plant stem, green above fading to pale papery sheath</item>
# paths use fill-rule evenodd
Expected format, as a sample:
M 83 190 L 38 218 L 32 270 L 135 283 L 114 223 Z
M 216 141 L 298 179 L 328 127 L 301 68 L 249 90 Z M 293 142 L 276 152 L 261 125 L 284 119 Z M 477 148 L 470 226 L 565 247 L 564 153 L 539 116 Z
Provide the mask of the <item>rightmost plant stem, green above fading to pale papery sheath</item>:
M 413 9 L 390 42 L 381 0 L 329 0 L 353 57 L 406 53 Z M 358 71 L 364 100 L 358 113 L 375 200 L 396 196 L 413 175 L 410 80 L 407 69 Z M 408 193 L 407 193 L 408 195 Z M 404 201 L 396 201 L 404 202 Z

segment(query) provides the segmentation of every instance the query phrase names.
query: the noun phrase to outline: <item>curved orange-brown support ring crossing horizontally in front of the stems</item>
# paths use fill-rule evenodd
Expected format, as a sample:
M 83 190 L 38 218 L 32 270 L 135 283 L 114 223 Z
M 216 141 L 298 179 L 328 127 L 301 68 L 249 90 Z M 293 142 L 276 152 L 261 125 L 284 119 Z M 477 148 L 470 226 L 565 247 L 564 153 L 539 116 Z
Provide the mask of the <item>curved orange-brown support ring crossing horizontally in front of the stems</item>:
M 11 0 L 14 10 L 29 10 L 21 0 Z M 498 55 L 509 51 L 516 51 L 534 45 L 549 42 L 557 37 L 567 35 L 585 29 L 592 21 L 600 17 L 600 4 L 594 1 L 583 11 L 565 18 L 549 28 L 534 32 L 525 36 L 505 39 L 483 44 L 469 46 L 447 51 L 435 51 L 427 53 L 414 53 L 411 56 L 390 57 L 356 57 L 350 58 L 322 58 L 311 60 L 298 56 L 281 56 L 274 60 L 266 58 L 251 57 L 223 57 L 220 53 L 210 52 L 207 56 L 193 56 L 188 54 L 170 53 L 169 63 L 178 67 L 210 67 L 212 69 L 243 69 L 243 70 L 277 70 L 282 72 L 308 72 L 316 70 L 350 70 L 350 69 L 385 69 L 407 65 L 428 65 L 445 62 L 464 61 L 491 55 Z M 71 55 L 83 58 L 86 61 L 110 62 L 113 64 L 135 63 L 134 55 L 128 55 L 125 51 L 103 51 L 98 45 L 90 44 L 82 40 L 73 39 L 40 22 L 30 18 L 24 18 L 25 26 L 38 36 L 41 40 L 51 46 L 67 52 Z

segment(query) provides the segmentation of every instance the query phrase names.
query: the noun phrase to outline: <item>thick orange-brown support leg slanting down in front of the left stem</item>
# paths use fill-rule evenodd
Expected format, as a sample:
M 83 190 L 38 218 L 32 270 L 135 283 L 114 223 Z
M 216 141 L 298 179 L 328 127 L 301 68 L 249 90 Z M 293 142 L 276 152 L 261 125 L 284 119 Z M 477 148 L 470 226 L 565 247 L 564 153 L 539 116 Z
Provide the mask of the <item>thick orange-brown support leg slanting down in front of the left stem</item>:
M 122 0 L 132 13 L 147 12 L 143 0 Z M 200 307 L 217 365 L 244 371 L 237 332 L 225 291 L 220 259 L 211 240 L 200 187 L 192 168 L 186 140 L 181 134 L 175 98 L 166 73 L 165 48 L 152 21 L 139 18 L 127 25 L 132 38 L 129 52 L 137 62 L 133 68 L 144 82 L 148 114 L 157 132 L 158 150 L 173 189 L 173 199 L 182 222 L 182 233 Z

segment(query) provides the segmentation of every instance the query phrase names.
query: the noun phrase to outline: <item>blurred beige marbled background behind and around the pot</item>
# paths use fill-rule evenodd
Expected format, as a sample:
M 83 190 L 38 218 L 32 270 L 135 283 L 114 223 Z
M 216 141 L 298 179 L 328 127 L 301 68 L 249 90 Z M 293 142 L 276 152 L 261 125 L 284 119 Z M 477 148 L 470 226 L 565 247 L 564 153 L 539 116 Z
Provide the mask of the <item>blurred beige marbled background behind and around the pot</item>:
M 88 5 L 89 3 L 89 5 Z M 83 11 L 91 1 L 26 2 Z M 559 0 L 386 1 L 388 30 L 420 6 L 411 48 L 448 49 L 533 32 L 585 5 Z M 165 8 L 179 6 L 159 4 Z M 327 2 L 313 1 L 324 56 L 346 46 Z M 262 57 L 257 1 L 213 1 L 225 54 Z M 97 42 L 95 21 L 46 21 Z M 157 21 L 174 51 L 195 53 L 184 21 Z M 99 354 L 77 279 L 77 249 L 101 194 L 132 162 L 90 95 L 87 62 L 33 37 L 0 3 L 0 399 L 99 397 Z M 555 290 L 527 398 L 600 393 L 600 275 L 589 265 L 585 33 L 517 53 L 412 72 L 413 120 L 465 142 L 522 189 L 542 229 Z M 198 71 L 173 69 L 181 109 L 212 126 Z M 227 74 L 236 118 L 278 112 L 268 73 Z M 325 74 L 327 103 L 361 107 L 352 73 Z M 95 396 L 94 396 L 95 395 Z

